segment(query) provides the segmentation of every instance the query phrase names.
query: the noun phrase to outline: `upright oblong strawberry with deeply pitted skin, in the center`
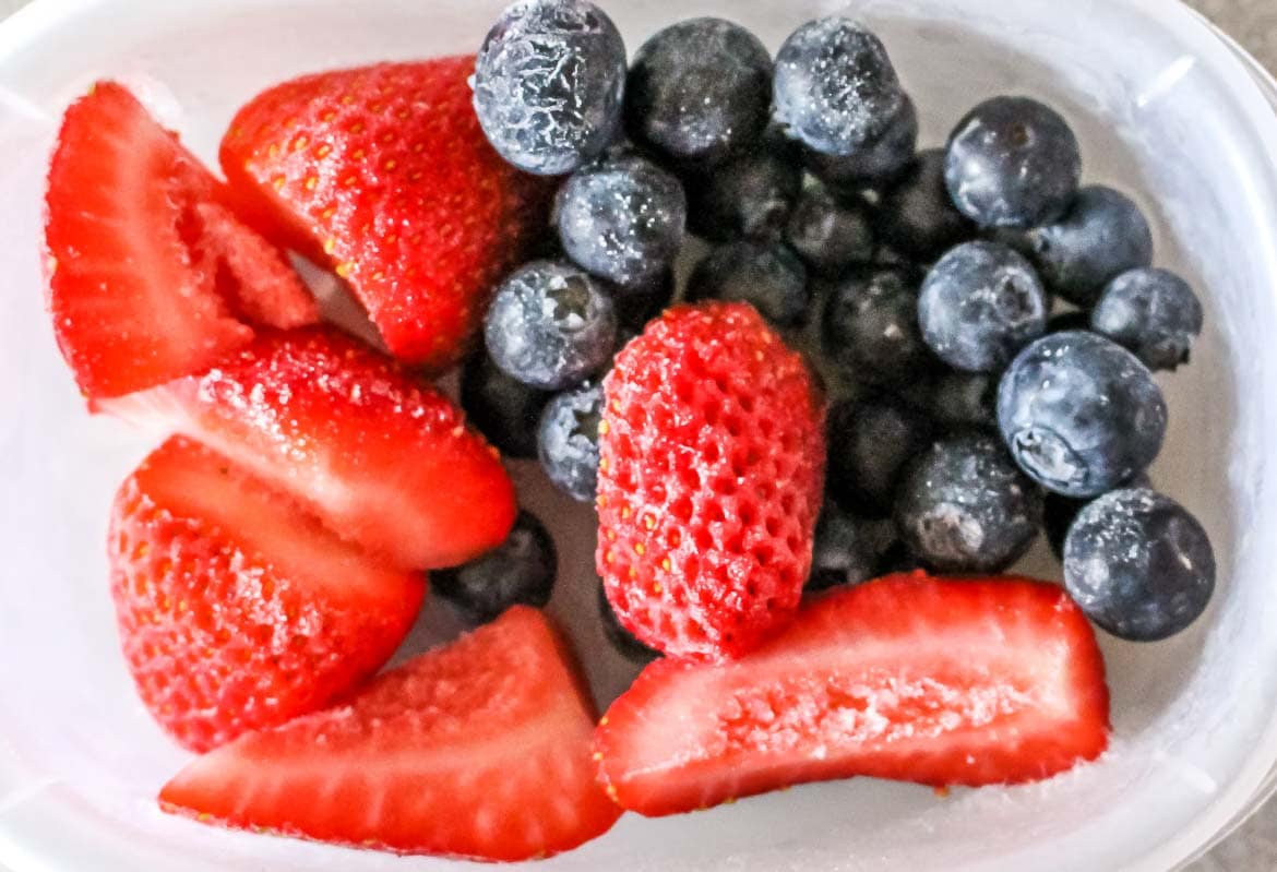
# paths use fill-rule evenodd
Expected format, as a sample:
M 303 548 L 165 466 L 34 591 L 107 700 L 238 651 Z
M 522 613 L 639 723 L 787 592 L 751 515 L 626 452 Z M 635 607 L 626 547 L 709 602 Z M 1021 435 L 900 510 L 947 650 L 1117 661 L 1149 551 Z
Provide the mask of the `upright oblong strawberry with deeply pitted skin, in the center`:
M 793 615 L 825 467 L 824 401 L 744 304 L 670 309 L 617 356 L 599 428 L 598 568 L 621 622 L 738 658 Z

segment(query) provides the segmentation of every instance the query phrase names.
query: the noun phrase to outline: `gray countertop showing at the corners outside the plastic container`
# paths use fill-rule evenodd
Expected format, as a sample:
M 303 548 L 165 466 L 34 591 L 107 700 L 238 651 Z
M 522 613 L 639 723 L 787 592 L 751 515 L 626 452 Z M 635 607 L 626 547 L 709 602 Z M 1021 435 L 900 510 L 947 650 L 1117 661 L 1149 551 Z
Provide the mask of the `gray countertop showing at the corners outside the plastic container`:
M 1172 0 L 1167 0 L 1170 1 Z M 0 0 L 0 19 L 27 3 L 28 0 Z M 1214 19 L 1269 69 L 1277 70 L 1277 0 L 1188 0 L 1188 3 Z M 1190 872 L 1277 869 L 1277 801 L 1268 803 L 1236 834 L 1189 869 Z

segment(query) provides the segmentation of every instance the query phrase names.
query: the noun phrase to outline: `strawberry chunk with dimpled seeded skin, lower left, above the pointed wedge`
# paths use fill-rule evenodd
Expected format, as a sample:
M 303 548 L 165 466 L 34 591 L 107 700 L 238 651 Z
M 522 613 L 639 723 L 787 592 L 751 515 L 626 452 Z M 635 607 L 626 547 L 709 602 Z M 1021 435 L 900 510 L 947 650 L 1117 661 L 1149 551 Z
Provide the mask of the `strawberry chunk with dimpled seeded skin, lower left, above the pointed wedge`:
M 111 590 L 143 702 L 204 751 L 328 705 L 411 628 L 425 580 L 370 560 L 183 438 L 115 497 Z

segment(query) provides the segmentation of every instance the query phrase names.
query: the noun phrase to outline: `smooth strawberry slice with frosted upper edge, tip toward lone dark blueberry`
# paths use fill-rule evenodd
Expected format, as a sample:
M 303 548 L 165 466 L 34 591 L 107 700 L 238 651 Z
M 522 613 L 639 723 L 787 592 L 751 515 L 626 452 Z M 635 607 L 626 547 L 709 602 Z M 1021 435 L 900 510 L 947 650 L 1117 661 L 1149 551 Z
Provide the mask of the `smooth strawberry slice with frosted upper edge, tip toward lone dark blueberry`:
M 203 375 L 98 407 L 198 438 L 402 568 L 464 563 L 515 523 L 510 476 L 462 412 L 333 328 L 263 335 Z

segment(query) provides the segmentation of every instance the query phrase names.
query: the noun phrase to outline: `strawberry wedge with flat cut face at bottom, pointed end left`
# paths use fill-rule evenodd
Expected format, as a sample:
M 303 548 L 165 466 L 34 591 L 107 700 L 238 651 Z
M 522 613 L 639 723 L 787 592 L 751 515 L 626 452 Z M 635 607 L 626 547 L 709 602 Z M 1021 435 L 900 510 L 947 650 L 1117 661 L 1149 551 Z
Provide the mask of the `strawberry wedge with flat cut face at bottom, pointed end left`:
M 165 785 L 165 811 L 402 854 L 522 861 L 619 816 L 594 715 L 549 620 L 517 605 L 347 705 L 249 733 Z

